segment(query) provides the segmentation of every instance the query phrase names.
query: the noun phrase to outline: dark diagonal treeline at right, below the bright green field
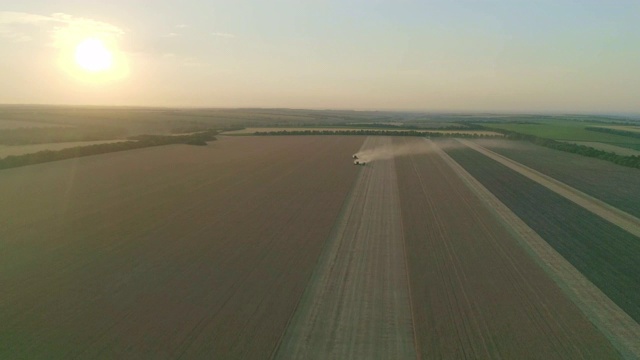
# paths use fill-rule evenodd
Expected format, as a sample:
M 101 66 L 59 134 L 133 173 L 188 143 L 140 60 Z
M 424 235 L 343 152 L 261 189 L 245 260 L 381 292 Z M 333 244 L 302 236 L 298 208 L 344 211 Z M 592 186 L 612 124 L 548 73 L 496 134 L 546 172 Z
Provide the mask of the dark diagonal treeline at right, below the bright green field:
M 565 143 L 561 141 L 542 138 L 539 136 L 520 134 L 520 133 L 509 131 L 509 130 L 501 130 L 501 129 L 492 129 L 492 130 L 503 133 L 507 139 L 529 141 L 536 145 L 541 145 L 544 147 L 548 147 L 550 149 L 570 152 L 570 153 L 574 153 L 582 156 L 588 156 L 592 158 L 610 161 L 614 164 L 618 164 L 622 166 L 640 169 L 640 156 L 618 155 L 616 153 L 598 150 L 590 146 Z

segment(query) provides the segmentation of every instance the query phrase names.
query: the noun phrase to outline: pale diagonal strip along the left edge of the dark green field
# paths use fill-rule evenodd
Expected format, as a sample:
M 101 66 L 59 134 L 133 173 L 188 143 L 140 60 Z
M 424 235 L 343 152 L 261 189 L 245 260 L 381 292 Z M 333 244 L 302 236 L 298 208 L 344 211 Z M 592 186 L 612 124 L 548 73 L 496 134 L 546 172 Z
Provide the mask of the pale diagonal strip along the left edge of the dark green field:
M 464 183 L 514 232 L 516 240 L 626 359 L 640 359 L 640 325 L 434 142 Z

